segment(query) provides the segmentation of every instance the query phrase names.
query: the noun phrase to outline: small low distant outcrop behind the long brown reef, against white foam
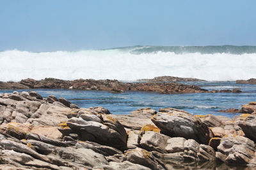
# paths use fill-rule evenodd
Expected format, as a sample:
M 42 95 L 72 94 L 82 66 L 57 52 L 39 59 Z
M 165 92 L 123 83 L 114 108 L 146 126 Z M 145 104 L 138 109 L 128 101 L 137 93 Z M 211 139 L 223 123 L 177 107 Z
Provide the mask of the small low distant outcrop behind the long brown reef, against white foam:
M 176 81 L 206 81 L 198 78 L 180 78 L 175 76 L 157 76 L 152 79 L 140 79 L 137 81 L 146 81 L 146 82 L 176 82 Z

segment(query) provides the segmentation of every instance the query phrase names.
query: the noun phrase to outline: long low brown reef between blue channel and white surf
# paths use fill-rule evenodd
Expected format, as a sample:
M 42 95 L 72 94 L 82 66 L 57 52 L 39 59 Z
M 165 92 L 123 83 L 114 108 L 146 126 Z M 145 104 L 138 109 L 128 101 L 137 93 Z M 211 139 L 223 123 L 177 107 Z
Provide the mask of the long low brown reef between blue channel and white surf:
M 33 80 L 31 78 L 19 82 L 0 81 L 0 89 L 78 89 L 78 90 L 103 90 L 114 93 L 124 91 L 159 92 L 161 94 L 175 93 L 198 93 L 198 92 L 241 92 L 239 89 L 232 90 L 205 90 L 196 85 L 184 85 L 181 83 L 147 82 L 147 83 L 124 83 L 118 80 L 59 80 L 45 78 Z

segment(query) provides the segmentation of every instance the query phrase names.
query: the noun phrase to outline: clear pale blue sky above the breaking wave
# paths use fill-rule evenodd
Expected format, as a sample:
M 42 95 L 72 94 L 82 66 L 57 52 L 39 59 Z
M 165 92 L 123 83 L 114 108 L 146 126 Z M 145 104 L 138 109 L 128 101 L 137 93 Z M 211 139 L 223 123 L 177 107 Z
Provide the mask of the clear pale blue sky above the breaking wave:
M 256 45 L 255 6 L 255 0 L 1 0 L 0 51 Z

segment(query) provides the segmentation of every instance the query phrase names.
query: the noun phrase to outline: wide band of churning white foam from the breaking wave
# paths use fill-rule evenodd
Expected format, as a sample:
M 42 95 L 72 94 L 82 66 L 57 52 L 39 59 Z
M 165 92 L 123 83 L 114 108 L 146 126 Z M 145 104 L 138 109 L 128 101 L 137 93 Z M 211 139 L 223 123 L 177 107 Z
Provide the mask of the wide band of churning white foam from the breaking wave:
M 155 76 L 179 76 L 210 81 L 256 77 L 256 53 L 152 52 L 83 50 L 78 52 L 0 52 L 0 80 L 40 80 L 46 77 L 137 80 Z

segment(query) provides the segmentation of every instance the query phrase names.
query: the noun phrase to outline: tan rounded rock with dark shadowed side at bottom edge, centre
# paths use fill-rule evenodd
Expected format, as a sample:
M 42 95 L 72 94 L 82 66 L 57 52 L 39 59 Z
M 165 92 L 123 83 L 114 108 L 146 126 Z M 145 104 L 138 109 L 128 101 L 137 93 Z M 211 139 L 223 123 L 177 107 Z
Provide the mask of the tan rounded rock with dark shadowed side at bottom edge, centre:
M 152 153 L 147 152 L 141 148 L 128 150 L 124 154 L 122 161 L 128 160 L 134 164 L 140 164 L 141 166 L 149 167 L 150 169 L 165 169 L 163 162 L 158 160 Z

